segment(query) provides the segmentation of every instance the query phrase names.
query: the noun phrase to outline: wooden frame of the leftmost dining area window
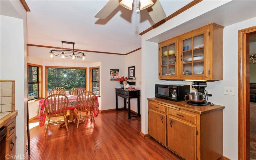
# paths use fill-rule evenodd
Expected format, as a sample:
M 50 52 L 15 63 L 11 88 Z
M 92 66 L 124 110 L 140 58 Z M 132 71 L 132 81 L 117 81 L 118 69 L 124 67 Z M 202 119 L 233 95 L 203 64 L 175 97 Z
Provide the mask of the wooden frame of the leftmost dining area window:
M 38 84 L 38 97 L 34 99 L 28 100 L 29 102 L 35 101 L 35 100 L 40 100 L 43 98 L 43 66 L 42 65 L 37 65 L 37 64 L 32 64 L 32 63 L 27 63 L 27 97 L 28 97 L 28 84 L 33 84 L 28 82 L 28 66 L 32 67 L 37 67 L 37 84 Z

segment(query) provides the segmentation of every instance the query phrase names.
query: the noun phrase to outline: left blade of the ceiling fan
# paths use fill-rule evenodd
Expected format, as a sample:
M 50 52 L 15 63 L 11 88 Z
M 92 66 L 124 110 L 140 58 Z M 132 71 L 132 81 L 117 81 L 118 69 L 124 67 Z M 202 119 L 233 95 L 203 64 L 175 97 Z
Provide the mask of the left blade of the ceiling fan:
M 111 14 L 116 9 L 116 7 L 118 7 L 118 5 L 119 0 L 109 0 L 94 17 L 99 19 L 106 19 L 109 14 Z

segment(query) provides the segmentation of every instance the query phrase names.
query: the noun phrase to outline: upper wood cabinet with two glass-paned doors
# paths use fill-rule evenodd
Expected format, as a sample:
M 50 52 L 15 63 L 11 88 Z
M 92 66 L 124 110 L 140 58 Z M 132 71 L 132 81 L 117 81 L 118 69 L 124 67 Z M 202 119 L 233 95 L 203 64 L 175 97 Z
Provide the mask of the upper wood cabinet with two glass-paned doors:
M 215 23 L 159 43 L 159 79 L 223 79 L 223 27 Z

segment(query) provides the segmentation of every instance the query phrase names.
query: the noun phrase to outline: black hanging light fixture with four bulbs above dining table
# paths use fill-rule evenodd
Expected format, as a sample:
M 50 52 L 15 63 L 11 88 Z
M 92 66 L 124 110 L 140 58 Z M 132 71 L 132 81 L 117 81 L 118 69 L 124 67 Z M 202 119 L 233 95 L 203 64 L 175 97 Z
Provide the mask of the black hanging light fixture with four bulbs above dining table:
M 82 56 L 82 60 L 83 61 L 85 60 L 84 53 L 75 51 L 75 49 L 74 49 L 74 44 L 75 43 L 74 42 L 61 41 L 61 43 L 62 43 L 62 50 L 51 50 L 50 51 L 50 58 L 51 59 L 54 58 L 54 54 L 53 53 L 58 53 L 57 57 L 60 55 L 62 60 L 64 60 L 66 58 L 65 54 L 69 54 L 70 55 L 72 53 L 72 60 L 76 60 L 76 55 L 77 54 L 80 55 L 80 56 L 77 56 L 77 57 L 81 58 L 81 56 Z M 73 50 L 64 50 L 64 47 L 63 47 L 64 43 L 66 43 L 66 44 L 73 44 Z

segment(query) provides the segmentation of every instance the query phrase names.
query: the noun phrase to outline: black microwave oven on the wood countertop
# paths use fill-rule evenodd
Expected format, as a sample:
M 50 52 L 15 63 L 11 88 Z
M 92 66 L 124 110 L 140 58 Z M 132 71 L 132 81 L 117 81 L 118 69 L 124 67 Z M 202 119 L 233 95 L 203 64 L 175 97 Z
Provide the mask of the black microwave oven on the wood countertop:
M 156 84 L 156 97 L 166 100 L 181 101 L 190 92 L 190 85 Z

